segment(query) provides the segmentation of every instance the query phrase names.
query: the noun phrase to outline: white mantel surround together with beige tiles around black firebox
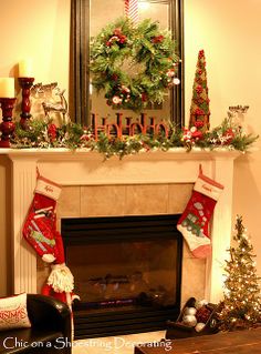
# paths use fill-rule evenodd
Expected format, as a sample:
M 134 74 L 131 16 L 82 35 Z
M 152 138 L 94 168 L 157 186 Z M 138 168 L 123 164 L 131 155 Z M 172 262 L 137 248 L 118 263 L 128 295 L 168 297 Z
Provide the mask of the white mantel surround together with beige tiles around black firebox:
M 58 208 L 60 229 L 60 221 L 65 218 L 181 213 L 191 195 L 201 163 L 205 173 L 226 188 L 210 225 L 212 256 L 206 261 L 194 259 L 184 242 L 181 304 L 191 295 L 212 303 L 222 299 L 221 265 L 230 246 L 233 160 L 240 155 L 239 152 L 192 149 L 187 153 L 184 149 L 171 149 L 168 152 L 139 153 L 121 161 L 114 156 L 105 162 L 101 154 L 86 150 L 2 149 L 2 154 L 12 161 L 10 239 L 13 293 L 40 291 L 50 272 L 45 264 L 41 263 L 38 267 L 40 260 L 22 235 L 24 218 L 35 188 L 36 168 L 42 175 L 63 188 Z M 101 309 L 97 311 L 101 313 Z M 112 312 L 115 312 L 114 307 Z M 90 321 L 95 321 L 94 316 Z

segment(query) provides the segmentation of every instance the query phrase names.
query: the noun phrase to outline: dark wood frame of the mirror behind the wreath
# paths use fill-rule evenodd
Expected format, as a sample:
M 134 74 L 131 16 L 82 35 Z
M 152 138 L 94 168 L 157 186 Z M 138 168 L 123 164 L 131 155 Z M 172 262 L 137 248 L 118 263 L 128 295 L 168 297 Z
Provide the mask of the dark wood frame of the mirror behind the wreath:
M 152 0 L 154 1 L 154 0 Z M 169 23 L 181 59 L 180 84 L 171 90 L 173 123 L 184 125 L 184 18 L 182 0 L 164 1 L 170 6 Z M 90 0 L 71 0 L 70 115 L 73 121 L 90 125 Z

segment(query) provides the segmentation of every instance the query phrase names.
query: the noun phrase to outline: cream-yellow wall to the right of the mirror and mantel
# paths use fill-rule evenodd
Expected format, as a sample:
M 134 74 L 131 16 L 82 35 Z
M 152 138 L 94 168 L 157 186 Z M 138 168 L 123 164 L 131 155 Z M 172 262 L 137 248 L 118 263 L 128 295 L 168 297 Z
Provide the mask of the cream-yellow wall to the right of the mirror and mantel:
M 211 127 L 227 115 L 229 105 L 250 105 L 244 118 L 249 131 L 261 132 L 261 1 L 185 0 L 186 118 L 198 50 L 205 49 Z M 260 149 L 261 140 L 255 144 Z M 226 173 L 226 171 L 225 171 Z M 261 275 L 261 152 L 236 161 L 233 213 L 243 216 L 252 237 Z

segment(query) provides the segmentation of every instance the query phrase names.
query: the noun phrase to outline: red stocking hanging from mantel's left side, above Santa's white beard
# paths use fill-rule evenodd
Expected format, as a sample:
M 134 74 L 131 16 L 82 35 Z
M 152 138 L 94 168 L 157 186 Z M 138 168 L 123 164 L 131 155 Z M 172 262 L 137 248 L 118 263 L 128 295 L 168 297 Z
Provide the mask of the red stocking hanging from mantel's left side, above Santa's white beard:
M 34 198 L 23 225 L 24 239 L 48 263 L 58 257 L 55 206 L 60 193 L 59 184 L 38 175 Z

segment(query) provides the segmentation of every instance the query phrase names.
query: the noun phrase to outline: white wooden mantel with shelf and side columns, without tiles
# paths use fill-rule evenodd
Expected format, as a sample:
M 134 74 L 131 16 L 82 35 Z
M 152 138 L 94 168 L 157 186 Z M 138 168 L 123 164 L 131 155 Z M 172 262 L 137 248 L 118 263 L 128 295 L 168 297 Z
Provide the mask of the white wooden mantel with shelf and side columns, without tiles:
M 237 151 L 173 149 L 142 152 L 119 160 L 86 150 L 2 149 L 12 161 L 13 292 L 36 292 L 36 256 L 22 237 L 22 225 L 33 198 L 36 166 L 40 173 L 62 185 L 194 183 L 199 164 L 203 173 L 225 185 L 211 223 L 212 256 L 207 262 L 206 297 L 222 295 L 222 265 L 230 245 L 233 160 Z M 192 276 L 192 270 L 191 270 Z

